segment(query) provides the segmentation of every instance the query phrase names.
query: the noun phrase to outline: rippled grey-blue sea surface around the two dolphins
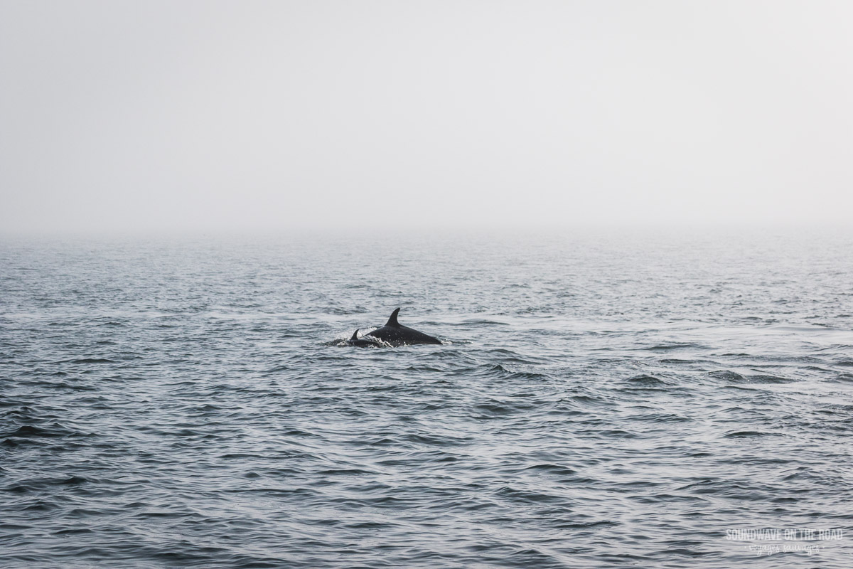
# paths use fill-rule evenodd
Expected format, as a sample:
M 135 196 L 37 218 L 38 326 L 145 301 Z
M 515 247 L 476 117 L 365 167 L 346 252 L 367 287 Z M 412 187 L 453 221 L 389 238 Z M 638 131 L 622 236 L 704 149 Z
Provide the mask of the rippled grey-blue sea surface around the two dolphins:
M 853 233 L 365 233 L 0 240 L 0 566 L 853 566 Z

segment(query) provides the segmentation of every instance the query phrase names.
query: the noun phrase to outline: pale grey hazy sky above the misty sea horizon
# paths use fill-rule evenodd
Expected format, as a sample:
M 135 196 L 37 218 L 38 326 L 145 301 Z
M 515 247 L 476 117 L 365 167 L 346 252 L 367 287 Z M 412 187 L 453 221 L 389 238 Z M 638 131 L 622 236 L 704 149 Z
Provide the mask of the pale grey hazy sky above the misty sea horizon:
M 843 223 L 853 3 L 0 0 L 0 229 Z

